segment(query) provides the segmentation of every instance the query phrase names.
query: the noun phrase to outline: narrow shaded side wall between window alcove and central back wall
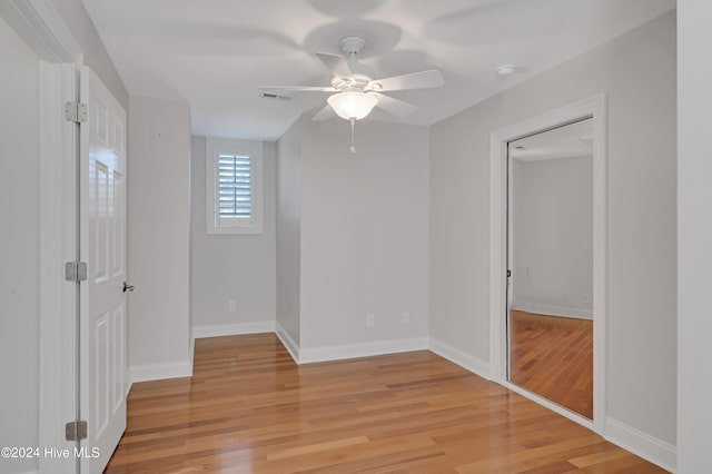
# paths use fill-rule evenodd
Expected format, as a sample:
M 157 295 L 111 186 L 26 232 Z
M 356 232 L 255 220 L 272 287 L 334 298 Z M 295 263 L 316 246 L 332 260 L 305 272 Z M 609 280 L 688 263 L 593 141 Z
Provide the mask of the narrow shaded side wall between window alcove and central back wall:
M 277 323 L 299 345 L 301 122 L 277 142 Z M 293 348 L 295 349 L 295 348 Z

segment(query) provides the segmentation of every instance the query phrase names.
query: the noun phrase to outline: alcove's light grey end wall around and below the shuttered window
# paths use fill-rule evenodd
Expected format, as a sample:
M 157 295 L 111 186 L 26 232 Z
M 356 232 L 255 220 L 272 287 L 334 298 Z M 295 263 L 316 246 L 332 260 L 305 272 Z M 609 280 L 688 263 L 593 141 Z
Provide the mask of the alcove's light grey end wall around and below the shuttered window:
M 190 305 L 192 327 L 200 330 L 274 323 L 276 299 L 275 187 L 276 145 L 264 144 L 264 233 L 207 235 L 206 139 L 192 137 Z M 228 302 L 237 310 L 228 312 Z

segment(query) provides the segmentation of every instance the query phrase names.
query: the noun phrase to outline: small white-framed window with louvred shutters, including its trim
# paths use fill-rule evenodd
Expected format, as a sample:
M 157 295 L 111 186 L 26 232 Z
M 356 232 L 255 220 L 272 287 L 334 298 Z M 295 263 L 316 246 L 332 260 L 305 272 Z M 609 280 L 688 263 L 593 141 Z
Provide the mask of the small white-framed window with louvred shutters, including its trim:
M 263 233 L 263 144 L 207 139 L 208 234 Z

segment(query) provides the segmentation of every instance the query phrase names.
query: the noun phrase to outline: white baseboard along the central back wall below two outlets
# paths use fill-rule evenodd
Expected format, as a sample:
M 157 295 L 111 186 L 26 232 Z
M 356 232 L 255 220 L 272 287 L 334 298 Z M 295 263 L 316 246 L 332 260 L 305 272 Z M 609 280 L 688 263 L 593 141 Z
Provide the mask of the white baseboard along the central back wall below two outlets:
M 427 348 L 428 340 L 426 337 L 345 344 L 340 346 L 324 346 L 306 349 L 299 348 L 298 363 L 310 364 L 315 362 L 340 361 L 345 358 L 369 357 L 411 350 L 426 350 Z

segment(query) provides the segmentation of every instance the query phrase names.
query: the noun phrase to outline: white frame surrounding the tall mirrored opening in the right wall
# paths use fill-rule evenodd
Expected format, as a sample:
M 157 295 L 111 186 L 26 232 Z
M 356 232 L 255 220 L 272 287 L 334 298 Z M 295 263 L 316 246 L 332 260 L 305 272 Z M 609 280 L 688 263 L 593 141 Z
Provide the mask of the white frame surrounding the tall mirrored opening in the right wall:
M 562 408 L 507 381 L 506 269 L 507 269 L 507 145 L 518 138 L 593 119 L 593 421 Z M 490 377 L 603 435 L 606 397 L 607 315 L 607 150 L 606 96 L 601 93 L 570 106 L 493 131 L 490 137 Z

